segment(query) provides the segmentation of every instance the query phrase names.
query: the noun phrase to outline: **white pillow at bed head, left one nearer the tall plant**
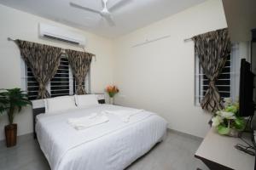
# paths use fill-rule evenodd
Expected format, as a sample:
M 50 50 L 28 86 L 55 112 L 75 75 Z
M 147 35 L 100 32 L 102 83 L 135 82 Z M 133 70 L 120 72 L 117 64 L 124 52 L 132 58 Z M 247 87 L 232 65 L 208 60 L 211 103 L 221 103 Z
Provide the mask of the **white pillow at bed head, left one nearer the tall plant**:
M 56 113 L 76 109 L 74 96 L 61 96 L 44 100 L 45 113 Z

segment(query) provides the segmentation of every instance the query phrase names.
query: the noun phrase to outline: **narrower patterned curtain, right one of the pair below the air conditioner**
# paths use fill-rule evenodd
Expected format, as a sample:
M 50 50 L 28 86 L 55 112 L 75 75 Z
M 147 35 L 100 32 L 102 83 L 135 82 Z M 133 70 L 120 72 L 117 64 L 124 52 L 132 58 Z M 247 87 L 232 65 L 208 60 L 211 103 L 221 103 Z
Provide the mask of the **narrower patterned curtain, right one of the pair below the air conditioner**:
M 76 94 L 86 94 L 83 82 L 87 72 L 90 69 L 91 58 L 94 54 L 73 51 L 70 49 L 66 49 L 66 53 L 68 56 L 69 65 L 72 68 L 73 75 L 78 84 Z

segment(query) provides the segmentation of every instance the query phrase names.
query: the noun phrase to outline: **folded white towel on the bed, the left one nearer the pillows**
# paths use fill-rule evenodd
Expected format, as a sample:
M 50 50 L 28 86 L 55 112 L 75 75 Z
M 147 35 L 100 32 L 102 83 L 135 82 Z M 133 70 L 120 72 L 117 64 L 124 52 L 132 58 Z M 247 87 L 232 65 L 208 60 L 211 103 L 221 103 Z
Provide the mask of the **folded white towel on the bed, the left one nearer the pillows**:
M 77 130 L 83 130 L 85 128 L 94 127 L 102 123 L 108 122 L 108 116 L 104 114 L 92 113 L 90 116 L 83 116 L 79 118 L 69 118 L 67 123 Z

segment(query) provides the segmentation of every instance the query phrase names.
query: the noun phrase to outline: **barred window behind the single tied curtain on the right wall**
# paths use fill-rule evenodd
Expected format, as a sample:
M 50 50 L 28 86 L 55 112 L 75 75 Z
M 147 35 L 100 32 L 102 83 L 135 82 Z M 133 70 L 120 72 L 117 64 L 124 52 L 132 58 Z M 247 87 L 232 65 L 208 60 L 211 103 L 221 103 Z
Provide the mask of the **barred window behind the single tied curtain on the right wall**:
M 203 72 L 201 68 L 200 61 L 198 57 L 195 59 L 196 62 L 196 70 L 195 70 L 195 83 L 196 83 L 196 95 L 195 95 L 195 105 L 200 105 L 201 100 L 204 98 L 207 88 L 209 86 L 209 81 L 207 76 Z M 228 56 L 228 59 L 224 65 L 224 69 L 222 70 L 221 74 L 218 76 L 218 80 L 215 82 L 215 86 L 218 88 L 218 93 L 220 97 L 223 98 L 230 98 L 232 97 L 232 90 L 231 90 L 231 78 L 232 78 L 232 59 L 231 55 Z

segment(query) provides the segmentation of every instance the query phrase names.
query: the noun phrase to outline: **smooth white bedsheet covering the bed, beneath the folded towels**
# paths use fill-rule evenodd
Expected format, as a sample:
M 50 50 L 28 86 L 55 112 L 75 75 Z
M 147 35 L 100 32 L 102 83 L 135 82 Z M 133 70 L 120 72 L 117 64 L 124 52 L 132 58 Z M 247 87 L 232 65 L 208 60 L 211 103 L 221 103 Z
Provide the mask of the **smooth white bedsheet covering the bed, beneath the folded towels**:
M 81 131 L 68 118 L 102 111 L 127 110 L 115 105 L 99 105 L 60 114 L 37 117 L 38 142 L 52 170 L 121 170 L 143 156 L 166 133 L 167 123 L 154 113 L 131 116 L 129 122 L 109 114 L 109 121 Z

